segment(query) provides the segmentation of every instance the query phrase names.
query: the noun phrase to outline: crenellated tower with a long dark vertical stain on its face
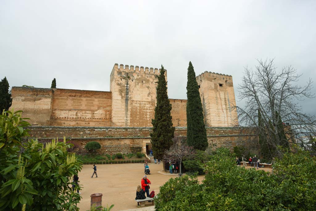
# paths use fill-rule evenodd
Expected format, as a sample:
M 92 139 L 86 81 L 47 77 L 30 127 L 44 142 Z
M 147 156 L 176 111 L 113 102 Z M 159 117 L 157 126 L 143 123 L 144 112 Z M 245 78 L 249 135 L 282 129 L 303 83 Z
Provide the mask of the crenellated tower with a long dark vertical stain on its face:
M 152 127 L 160 69 L 115 64 L 110 76 L 113 127 Z M 167 80 L 167 71 L 165 73 Z

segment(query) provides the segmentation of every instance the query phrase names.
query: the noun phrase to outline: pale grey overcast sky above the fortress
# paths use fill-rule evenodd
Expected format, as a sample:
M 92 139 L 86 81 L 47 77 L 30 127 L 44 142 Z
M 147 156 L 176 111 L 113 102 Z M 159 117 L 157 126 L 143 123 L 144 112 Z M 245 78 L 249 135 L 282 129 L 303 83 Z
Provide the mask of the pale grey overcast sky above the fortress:
M 315 80 L 316 1 L 0 1 L 0 77 L 10 87 L 110 90 L 114 63 L 167 69 L 186 99 L 189 61 L 233 76 L 275 58 Z M 316 80 L 315 80 L 316 82 Z M 315 92 L 315 88 L 313 92 Z M 316 114 L 315 99 L 303 101 Z M 237 102 L 237 105 L 241 105 Z

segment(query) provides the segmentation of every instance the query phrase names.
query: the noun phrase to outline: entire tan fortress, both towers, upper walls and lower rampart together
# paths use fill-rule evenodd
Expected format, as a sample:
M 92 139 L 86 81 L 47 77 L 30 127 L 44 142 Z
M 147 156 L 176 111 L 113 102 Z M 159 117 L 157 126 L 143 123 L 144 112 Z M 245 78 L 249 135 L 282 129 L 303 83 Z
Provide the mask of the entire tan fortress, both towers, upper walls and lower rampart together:
M 157 68 L 115 64 L 110 91 L 12 87 L 10 109 L 23 110 L 22 117 L 30 118 L 30 135 L 34 138 L 65 136 L 81 143 L 82 149 L 86 142 L 96 140 L 104 153 L 127 152 L 129 146 L 142 146 L 146 152 L 158 74 Z M 167 71 L 165 76 L 167 80 Z M 196 79 L 209 145 L 232 148 L 242 143 L 245 135 L 233 127 L 238 125 L 237 112 L 230 110 L 236 104 L 232 76 L 205 71 Z M 173 126 L 177 127 L 175 135 L 186 136 L 187 100 L 169 100 Z

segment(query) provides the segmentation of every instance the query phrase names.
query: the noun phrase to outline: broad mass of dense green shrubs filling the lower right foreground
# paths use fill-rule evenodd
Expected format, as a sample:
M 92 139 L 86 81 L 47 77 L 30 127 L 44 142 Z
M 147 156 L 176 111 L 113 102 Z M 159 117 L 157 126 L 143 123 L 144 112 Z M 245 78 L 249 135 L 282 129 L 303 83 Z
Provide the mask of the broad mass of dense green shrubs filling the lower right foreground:
M 201 164 L 207 172 L 169 179 L 160 187 L 155 209 L 160 210 L 314 210 L 316 158 L 298 149 L 284 153 L 273 173 L 238 167 L 234 154 L 219 148 Z

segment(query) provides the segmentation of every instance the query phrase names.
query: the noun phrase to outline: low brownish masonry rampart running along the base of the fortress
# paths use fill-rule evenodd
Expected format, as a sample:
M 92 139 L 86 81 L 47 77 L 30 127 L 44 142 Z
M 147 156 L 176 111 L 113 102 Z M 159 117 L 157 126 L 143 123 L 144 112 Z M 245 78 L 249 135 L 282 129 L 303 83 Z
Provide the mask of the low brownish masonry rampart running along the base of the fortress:
M 100 153 L 129 152 L 131 146 L 140 146 L 146 152 L 146 143 L 150 142 L 151 127 L 29 127 L 31 138 L 53 139 L 66 136 L 80 143 L 81 152 L 88 141 L 101 144 Z M 207 127 L 207 139 L 212 149 L 225 146 L 233 149 L 242 145 L 247 134 L 240 134 L 235 127 Z M 175 136 L 186 136 L 185 127 L 176 127 Z M 144 148 L 145 147 L 145 148 Z

